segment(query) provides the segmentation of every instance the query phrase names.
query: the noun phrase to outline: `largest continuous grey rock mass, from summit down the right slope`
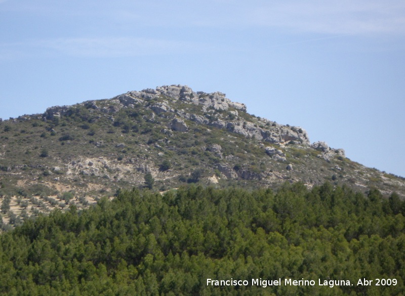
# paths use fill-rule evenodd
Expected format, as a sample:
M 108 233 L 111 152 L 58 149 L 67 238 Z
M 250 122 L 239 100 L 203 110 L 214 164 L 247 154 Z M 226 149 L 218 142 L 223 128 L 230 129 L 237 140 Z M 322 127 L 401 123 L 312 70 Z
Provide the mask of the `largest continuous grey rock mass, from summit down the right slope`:
M 121 107 L 133 108 L 134 104 L 142 104 L 157 114 L 173 112 L 175 110 L 171 107 L 173 103 L 188 103 L 199 106 L 203 114 L 187 112 L 184 109 L 177 110 L 177 115 L 183 119 L 212 125 L 248 138 L 273 144 L 310 144 L 307 132 L 300 126 L 282 125 L 265 118 L 257 118 L 255 122 L 244 119 L 244 116 L 239 116 L 239 112 L 246 113 L 246 105 L 232 102 L 221 92 L 194 92 L 188 86 L 177 84 L 157 87 L 154 90 L 145 89 L 140 92 L 128 92 L 112 100 L 118 100 Z M 158 102 L 149 105 L 147 102 L 152 100 Z

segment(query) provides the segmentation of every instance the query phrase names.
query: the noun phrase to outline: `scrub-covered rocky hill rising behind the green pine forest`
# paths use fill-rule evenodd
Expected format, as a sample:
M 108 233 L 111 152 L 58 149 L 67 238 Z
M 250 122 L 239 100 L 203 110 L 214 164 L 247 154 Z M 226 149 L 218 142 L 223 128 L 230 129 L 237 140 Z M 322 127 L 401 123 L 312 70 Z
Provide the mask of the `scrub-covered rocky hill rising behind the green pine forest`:
M 14 209 L 17 218 L 87 205 L 120 188 L 166 191 L 186 183 L 276 188 L 300 181 L 311 188 L 330 181 L 405 196 L 404 178 L 325 142 L 311 144 L 300 126 L 251 115 L 223 93 L 180 85 L 3 120 L 0 169 L 2 210 Z

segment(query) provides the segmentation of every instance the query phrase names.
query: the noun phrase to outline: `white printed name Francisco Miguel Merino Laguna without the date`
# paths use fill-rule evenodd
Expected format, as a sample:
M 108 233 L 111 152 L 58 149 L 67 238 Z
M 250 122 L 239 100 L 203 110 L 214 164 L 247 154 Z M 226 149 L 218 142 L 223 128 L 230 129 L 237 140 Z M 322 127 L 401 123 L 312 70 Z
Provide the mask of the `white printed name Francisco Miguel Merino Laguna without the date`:
M 291 278 L 286 278 L 284 281 L 281 281 L 281 278 L 276 280 L 266 280 L 261 278 L 253 278 L 251 282 L 248 280 L 215 280 L 215 279 L 207 279 L 207 286 L 248 286 L 251 284 L 252 286 L 261 286 L 263 288 L 267 286 L 314 286 L 316 282 L 314 280 L 293 280 Z M 350 286 L 351 283 L 349 280 L 318 280 L 319 286 Z

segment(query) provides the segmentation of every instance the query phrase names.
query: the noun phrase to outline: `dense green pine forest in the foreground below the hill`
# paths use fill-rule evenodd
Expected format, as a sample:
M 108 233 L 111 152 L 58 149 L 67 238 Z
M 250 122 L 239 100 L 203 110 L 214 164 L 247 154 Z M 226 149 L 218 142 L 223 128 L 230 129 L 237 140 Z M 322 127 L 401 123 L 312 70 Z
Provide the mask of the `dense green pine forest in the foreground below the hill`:
M 405 202 L 326 183 L 120 191 L 0 236 L 2 295 L 401 295 Z M 252 279 L 281 278 L 278 286 Z M 314 280 L 314 286 L 284 279 Z M 374 280 L 357 285 L 359 279 Z M 376 286 L 375 279 L 396 285 Z M 211 286 L 207 279 L 248 280 Z M 352 286 L 320 286 L 318 280 Z

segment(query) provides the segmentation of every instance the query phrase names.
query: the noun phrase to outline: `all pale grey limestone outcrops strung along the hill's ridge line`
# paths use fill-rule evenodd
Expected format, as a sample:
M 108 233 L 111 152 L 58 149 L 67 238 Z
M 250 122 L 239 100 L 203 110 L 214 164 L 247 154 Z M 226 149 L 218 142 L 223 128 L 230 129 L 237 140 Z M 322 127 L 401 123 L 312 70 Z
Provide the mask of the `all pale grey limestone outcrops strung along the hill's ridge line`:
M 177 109 L 173 105 L 177 102 L 190 104 L 190 108 L 199 106 L 200 111 L 190 112 L 188 111 L 190 108 Z M 184 104 L 183 106 L 186 106 Z M 94 100 L 77 104 L 77 106 L 86 107 L 90 112 L 101 109 L 102 113 L 110 114 L 108 116 L 111 116 L 111 120 L 114 120 L 113 114 L 123 108 L 135 110 L 138 107 L 145 107 L 152 111 L 148 118 L 145 117 L 148 122 L 154 122 L 155 115 L 164 116 L 172 120 L 168 128 L 178 132 L 187 132 L 188 126 L 184 120 L 191 120 L 217 129 L 226 129 L 256 141 L 277 145 L 310 145 L 307 132 L 300 126 L 278 124 L 258 117 L 258 120 L 254 121 L 245 120 L 241 116 L 246 112 L 245 104 L 232 102 L 221 92 L 194 92 L 190 87 L 180 84 L 131 91 L 108 100 L 108 106 L 100 108 L 99 105 Z M 55 106 L 48 108 L 42 117 L 44 120 L 53 119 L 67 115 L 69 112 L 72 112 L 69 106 Z M 325 142 L 316 142 L 310 147 L 321 151 L 326 158 L 330 158 L 331 153 L 344 156 L 342 149 L 331 149 Z M 275 153 L 272 157 L 283 161 L 285 155 Z

